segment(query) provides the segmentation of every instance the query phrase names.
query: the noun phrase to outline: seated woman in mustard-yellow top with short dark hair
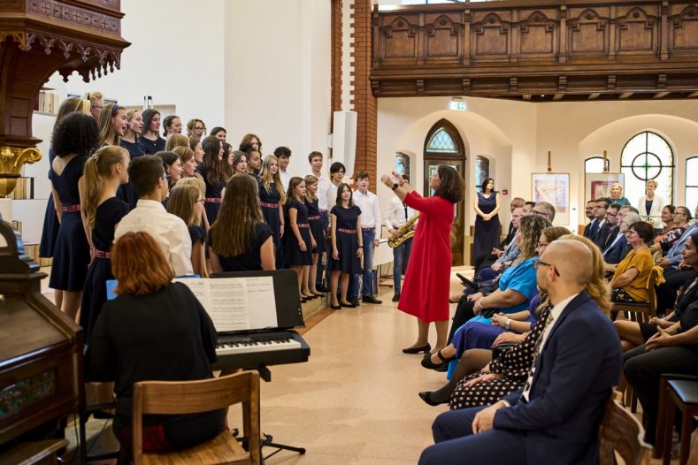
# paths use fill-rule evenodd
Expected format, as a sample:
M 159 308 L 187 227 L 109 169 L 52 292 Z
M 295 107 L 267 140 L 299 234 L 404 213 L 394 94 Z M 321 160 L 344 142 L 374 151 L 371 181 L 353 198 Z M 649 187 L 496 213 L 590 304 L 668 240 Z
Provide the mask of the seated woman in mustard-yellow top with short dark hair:
M 618 263 L 610 280 L 611 300 L 617 302 L 646 302 L 649 300 L 648 279 L 654 268 L 648 243 L 654 230 L 645 221 L 630 225 L 625 238 L 633 247 L 621 263 Z

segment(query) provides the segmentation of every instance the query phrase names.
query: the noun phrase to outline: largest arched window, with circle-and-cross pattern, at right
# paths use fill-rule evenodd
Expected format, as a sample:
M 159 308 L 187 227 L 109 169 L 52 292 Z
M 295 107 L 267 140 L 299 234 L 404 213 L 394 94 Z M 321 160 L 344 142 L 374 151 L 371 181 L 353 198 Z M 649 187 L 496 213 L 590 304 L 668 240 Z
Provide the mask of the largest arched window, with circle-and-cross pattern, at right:
M 625 197 L 636 205 L 645 194 L 645 185 L 654 179 L 656 194 L 671 203 L 674 181 L 674 154 L 669 143 L 656 133 L 639 133 L 625 143 L 620 156 L 620 171 L 625 173 Z

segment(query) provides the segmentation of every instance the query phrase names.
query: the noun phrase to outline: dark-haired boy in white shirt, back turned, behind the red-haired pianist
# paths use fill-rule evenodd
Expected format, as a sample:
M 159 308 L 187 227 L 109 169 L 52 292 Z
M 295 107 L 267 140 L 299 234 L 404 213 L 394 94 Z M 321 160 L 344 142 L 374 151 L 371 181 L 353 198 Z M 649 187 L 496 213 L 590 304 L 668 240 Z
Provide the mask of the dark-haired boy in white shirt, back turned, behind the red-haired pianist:
M 128 178 L 138 194 L 138 202 L 135 209 L 121 219 L 114 238 L 118 240 L 128 232 L 147 231 L 172 263 L 175 276 L 193 274 L 187 225 L 180 217 L 167 213 L 162 203 L 170 193 L 162 160 L 154 155 L 131 160 Z

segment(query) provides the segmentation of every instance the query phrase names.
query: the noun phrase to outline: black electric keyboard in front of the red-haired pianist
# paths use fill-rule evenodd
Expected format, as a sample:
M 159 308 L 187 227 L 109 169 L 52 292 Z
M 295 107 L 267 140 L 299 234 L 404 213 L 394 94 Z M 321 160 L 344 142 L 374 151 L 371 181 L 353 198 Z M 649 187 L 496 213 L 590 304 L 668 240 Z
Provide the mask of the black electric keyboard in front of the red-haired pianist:
M 311 347 L 295 331 L 219 334 L 213 370 L 308 362 Z

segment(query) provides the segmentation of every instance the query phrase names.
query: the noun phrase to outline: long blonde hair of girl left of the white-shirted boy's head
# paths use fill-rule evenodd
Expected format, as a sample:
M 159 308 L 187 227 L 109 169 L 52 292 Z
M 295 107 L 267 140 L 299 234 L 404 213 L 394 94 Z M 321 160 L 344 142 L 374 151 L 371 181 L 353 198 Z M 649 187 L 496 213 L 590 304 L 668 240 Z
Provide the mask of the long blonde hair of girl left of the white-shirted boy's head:
M 99 201 L 102 199 L 104 180 L 111 177 L 111 167 L 115 164 L 127 164 L 128 151 L 115 145 L 107 145 L 97 150 L 85 163 L 85 213 L 89 229 L 95 229 L 95 217 Z

